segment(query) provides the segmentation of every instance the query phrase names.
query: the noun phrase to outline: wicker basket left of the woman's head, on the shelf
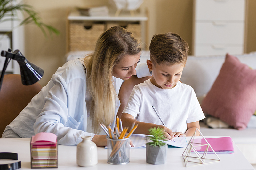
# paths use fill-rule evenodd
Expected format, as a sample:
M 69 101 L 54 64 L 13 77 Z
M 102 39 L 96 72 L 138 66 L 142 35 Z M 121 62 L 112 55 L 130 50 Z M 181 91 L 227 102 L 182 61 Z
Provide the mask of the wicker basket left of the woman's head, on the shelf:
M 70 23 L 70 51 L 94 50 L 96 41 L 105 30 L 104 24 Z

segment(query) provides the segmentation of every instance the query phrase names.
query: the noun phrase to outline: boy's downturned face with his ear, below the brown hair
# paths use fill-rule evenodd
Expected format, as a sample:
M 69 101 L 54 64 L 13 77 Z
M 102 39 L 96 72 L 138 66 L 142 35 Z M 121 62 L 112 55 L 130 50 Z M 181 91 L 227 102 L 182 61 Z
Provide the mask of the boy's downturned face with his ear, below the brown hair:
M 156 87 L 161 89 L 171 89 L 180 81 L 181 74 L 184 68 L 184 63 L 166 65 L 154 65 L 150 60 L 147 60 L 147 65 L 152 70 L 151 82 Z

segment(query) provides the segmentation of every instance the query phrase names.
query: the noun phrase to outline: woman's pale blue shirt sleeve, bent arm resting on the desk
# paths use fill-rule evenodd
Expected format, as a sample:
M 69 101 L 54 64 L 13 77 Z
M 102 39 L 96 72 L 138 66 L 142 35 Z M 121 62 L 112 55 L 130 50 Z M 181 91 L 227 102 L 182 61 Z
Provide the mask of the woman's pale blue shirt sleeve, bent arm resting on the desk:
M 53 85 L 51 85 L 52 88 L 48 91 L 48 95 L 44 98 L 44 107 L 41 113 L 38 115 L 34 124 L 35 134 L 39 132 L 54 133 L 58 136 L 58 141 L 61 145 L 76 145 L 82 141 L 81 136 L 84 135 L 91 136 L 92 139 L 95 134 L 71 128 L 72 126 L 67 124 L 70 124 L 71 122 L 73 123 L 73 126 L 75 126 L 75 123 L 77 123 L 74 119 L 70 120 L 70 118 L 72 117 L 68 116 L 68 109 L 70 109 L 68 107 L 76 107 L 68 106 L 68 100 L 76 100 L 72 96 L 70 90 L 68 90 L 70 88 L 68 87 L 69 85 L 60 75 L 54 75 L 49 84 L 50 83 L 53 83 Z M 77 114 L 79 114 L 79 112 L 82 112 L 82 108 L 71 109 L 76 109 Z M 83 122 L 81 121 L 80 123 Z M 86 126 L 86 124 L 83 125 Z

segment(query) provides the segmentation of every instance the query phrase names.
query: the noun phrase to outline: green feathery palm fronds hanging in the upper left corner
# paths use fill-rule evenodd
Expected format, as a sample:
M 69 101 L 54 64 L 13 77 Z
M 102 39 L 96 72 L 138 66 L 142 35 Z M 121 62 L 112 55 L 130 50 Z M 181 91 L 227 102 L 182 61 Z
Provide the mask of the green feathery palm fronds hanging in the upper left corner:
M 42 19 L 40 18 L 39 14 L 34 11 L 32 6 L 19 2 L 16 0 L 0 0 L 0 23 L 10 20 L 19 21 L 19 25 L 14 26 L 12 29 L 28 23 L 34 23 L 42 30 L 45 37 L 47 37 L 45 29 L 48 30 L 50 36 L 52 36 L 52 33 L 55 33 L 56 35 L 60 34 L 56 28 L 44 24 L 41 21 Z M 25 19 L 20 19 L 18 17 L 18 12 L 23 14 L 26 13 L 28 17 Z M 9 32 L 6 32 L 5 34 L 8 34 Z

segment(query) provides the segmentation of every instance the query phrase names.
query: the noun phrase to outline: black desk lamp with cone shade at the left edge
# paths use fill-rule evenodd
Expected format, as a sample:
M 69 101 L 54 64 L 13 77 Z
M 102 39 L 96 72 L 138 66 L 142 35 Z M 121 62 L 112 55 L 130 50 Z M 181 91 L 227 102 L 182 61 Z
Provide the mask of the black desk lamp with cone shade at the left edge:
M 4 62 L 4 67 L 1 73 L 0 78 L 0 90 L 4 78 L 4 73 L 7 68 L 8 63 L 11 59 L 18 61 L 20 65 L 20 75 L 21 75 L 21 81 L 23 85 L 32 85 L 39 81 L 43 74 L 44 70 L 40 67 L 36 66 L 35 64 L 30 63 L 24 55 L 21 54 L 20 50 L 15 50 L 12 52 L 12 49 L 8 49 L 8 51 L 2 51 L 1 56 L 6 57 Z

